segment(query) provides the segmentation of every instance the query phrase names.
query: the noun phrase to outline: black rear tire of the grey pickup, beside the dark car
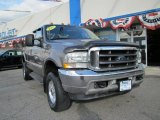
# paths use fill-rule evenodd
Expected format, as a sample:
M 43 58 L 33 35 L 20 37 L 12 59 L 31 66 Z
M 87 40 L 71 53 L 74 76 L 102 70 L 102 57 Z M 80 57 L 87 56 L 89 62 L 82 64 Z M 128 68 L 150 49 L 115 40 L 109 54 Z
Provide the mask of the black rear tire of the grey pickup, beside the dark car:
M 22 62 L 22 71 L 23 71 L 23 78 L 25 81 L 32 80 L 32 77 L 29 75 L 31 70 L 28 69 L 25 62 Z

